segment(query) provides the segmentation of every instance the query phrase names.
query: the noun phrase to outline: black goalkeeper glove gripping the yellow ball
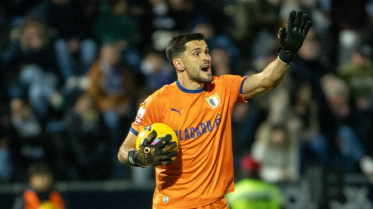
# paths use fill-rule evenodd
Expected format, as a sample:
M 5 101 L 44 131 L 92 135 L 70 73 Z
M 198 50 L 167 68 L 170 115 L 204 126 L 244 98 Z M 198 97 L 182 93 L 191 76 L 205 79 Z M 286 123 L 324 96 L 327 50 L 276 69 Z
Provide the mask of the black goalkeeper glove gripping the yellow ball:
M 157 144 L 151 145 L 151 142 L 156 138 L 157 132 L 153 130 L 143 139 L 137 151 L 131 150 L 128 152 L 128 162 L 138 167 L 171 164 L 171 158 L 178 155 L 177 151 L 170 151 L 177 146 L 176 142 L 170 142 L 172 136 L 167 134 L 160 138 Z

